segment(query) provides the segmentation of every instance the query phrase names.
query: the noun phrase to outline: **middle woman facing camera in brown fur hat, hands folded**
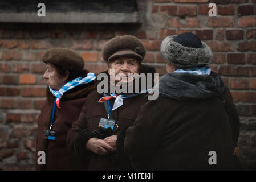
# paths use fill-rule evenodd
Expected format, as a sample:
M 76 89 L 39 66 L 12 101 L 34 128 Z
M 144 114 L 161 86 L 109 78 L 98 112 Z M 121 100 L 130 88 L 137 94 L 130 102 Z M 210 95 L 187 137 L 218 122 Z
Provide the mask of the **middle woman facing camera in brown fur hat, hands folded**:
M 102 52 L 108 65 L 108 71 L 103 73 L 108 77 L 109 92 L 95 90 L 89 94 L 78 121 L 68 132 L 67 144 L 88 170 L 132 169 L 123 150 L 123 139 L 126 129 L 135 121 L 145 93 L 112 93 L 109 88 L 120 82 L 126 86 L 133 84 L 126 79 L 129 73 L 155 73 L 155 68 L 141 64 L 145 48 L 135 36 L 116 36 L 105 44 Z M 111 69 L 115 71 L 113 75 Z M 116 77 L 118 73 L 124 75 L 121 80 Z

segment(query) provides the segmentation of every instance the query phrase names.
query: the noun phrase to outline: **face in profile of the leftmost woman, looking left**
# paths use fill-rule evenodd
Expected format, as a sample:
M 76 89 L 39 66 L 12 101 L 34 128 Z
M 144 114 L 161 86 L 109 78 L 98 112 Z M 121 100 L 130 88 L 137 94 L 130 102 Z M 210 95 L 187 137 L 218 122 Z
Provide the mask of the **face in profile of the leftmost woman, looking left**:
M 51 86 L 53 90 L 59 90 L 67 82 L 67 76 L 61 76 L 57 71 L 54 65 L 47 63 L 46 72 L 43 75 L 43 78 L 46 79 L 47 85 Z

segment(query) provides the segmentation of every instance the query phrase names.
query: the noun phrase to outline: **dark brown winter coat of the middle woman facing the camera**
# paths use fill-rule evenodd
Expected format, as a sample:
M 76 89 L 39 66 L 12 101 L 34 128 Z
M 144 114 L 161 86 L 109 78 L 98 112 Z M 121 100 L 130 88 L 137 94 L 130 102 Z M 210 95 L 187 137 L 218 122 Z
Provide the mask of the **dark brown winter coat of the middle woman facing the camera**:
M 107 118 L 104 104 L 97 102 L 101 97 L 103 94 L 97 93 L 97 90 L 88 95 L 78 121 L 74 122 L 68 132 L 68 148 L 84 162 L 88 170 L 131 170 L 133 167 L 124 153 L 123 140 L 125 131 L 136 119 L 145 94 L 127 98 L 121 107 L 111 112 L 119 126 L 116 131 L 112 131 L 112 135 L 117 135 L 117 150 L 107 155 L 94 154 L 85 147 L 87 141 L 93 137 L 91 131 L 98 130 L 100 118 Z M 115 100 L 109 101 L 112 107 Z

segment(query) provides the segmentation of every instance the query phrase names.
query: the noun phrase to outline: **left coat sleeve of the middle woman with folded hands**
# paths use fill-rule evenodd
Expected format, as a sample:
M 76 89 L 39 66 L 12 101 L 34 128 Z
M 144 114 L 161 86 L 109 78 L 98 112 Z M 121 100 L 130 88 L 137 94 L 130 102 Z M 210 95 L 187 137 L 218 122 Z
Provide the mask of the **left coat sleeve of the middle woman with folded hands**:
M 87 141 L 92 138 L 91 131 L 87 130 L 86 102 L 84 103 L 77 121 L 75 121 L 67 134 L 67 147 L 77 158 L 87 160 L 90 151 L 86 150 Z

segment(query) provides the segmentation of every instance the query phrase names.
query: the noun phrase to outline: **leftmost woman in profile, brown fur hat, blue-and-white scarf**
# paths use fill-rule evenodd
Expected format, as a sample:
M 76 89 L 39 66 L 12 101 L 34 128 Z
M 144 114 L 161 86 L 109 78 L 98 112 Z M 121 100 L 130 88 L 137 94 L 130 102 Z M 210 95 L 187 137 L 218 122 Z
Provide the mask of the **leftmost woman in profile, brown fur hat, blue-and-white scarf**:
M 46 63 L 46 101 L 38 117 L 36 154 L 44 151 L 45 164 L 36 170 L 80 170 L 82 164 L 68 151 L 66 137 L 78 119 L 87 95 L 95 90 L 94 73 L 84 70 L 82 57 L 66 48 L 51 48 L 42 57 Z M 40 160 L 40 159 L 39 159 Z

